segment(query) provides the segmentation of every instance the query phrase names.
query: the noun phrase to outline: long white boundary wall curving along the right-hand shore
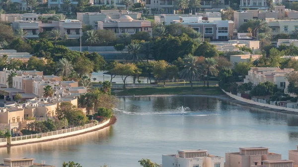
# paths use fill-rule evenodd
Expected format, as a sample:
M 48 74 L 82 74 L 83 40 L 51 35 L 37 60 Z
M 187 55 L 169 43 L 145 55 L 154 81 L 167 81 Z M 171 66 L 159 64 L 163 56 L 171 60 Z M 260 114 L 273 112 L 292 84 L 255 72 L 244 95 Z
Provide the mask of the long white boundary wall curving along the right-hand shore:
M 235 100 L 241 101 L 241 102 L 245 102 L 245 103 L 249 103 L 249 104 L 253 104 L 253 105 L 257 105 L 257 106 L 262 106 L 262 107 L 268 107 L 268 108 L 272 108 L 272 109 L 279 109 L 279 110 L 286 110 L 286 111 L 298 112 L 298 109 L 292 109 L 292 108 L 286 108 L 286 107 L 281 107 L 281 106 L 275 106 L 275 105 L 269 105 L 269 104 L 254 102 L 252 100 L 241 98 L 241 97 L 239 97 L 237 95 L 233 95 L 231 93 L 225 92 L 224 90 L 223 90 L 223 92 L 226 95 L 228 95 L 229 97 L 231 97 L 231 98 L 233 98 Z

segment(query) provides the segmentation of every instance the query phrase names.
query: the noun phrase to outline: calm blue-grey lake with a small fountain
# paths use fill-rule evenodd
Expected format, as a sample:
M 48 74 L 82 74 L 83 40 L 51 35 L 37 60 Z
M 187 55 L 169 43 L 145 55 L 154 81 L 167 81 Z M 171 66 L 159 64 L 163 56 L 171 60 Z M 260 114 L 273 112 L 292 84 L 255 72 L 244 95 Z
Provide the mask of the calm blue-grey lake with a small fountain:
M 181 112 L 177 107 L 189 107 Z M 298 144 L 298 115 L 234 106 L 193 96 L 120 98 L 116 124 L 87 134 L 24 146 L 0 148 L 3 158 L 29 157 L 61 167 L 140 167 L 142 158 L 161 164 L 162 154 L 206 149 L 224 156 L 239 147 L 264 146 L 288 158 Z

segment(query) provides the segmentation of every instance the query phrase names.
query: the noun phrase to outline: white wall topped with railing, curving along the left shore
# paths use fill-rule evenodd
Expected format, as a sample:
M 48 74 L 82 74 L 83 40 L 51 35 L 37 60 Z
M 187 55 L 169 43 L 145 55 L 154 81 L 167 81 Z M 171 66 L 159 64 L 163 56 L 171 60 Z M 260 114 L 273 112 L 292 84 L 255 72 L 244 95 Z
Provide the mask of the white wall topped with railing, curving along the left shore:
M 77 126 L 77 127 L 72 127 L 69 129 L 62 129 L 62 130 L 51 131 L 51 132 L 47 132 L 47 133 L 39 133 L 39 134 L 34 134 L 34 135 L 24 135 L 24 136 L 12 137 L 11 145 L 26 144 L 26 143 L 31 143 L 31 142 L 41 142 L 44 140 L 51 140 L 51 139 L 57 139 L 57 138 L 61 138 L 61 137 L 72 136 L 72 135 L 76 135 L 79 133 L 84 133 L 84 132 L 88 132 L 88 131 L 100 128 L 102 126 L 105 126 L 109 122 L 110 122 L 110 119 L 108 119 L 105 122 L 102 122 L 100 124 L 97 124 L 97 125 L 95 125 L 93 123 L 89 123 L 84 126 Z M 7 144 L 6 140 L 4 140 L 4 138 L 0 138 L 0 141 L 1 140 L 3 140 L 3 142 L 0 142 L 0 146 Z

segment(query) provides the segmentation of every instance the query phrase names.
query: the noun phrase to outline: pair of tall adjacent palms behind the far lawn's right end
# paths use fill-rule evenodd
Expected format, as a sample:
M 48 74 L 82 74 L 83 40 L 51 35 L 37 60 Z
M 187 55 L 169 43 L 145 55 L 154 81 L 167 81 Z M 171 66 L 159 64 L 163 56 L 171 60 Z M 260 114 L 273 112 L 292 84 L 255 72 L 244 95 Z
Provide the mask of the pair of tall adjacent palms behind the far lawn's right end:
M 180 71 L 181 78 L 188 79 L 191 87 L 193 87 L 193 81 L 203 77 L 204 85 L 205 78 L 207 78 L 207 86 L 209 87 L 209 77 L 217 76 L 217 61 L 214 58 L 201 59 L 198 56 L 188 55 L 183 59 L 182 70 Z

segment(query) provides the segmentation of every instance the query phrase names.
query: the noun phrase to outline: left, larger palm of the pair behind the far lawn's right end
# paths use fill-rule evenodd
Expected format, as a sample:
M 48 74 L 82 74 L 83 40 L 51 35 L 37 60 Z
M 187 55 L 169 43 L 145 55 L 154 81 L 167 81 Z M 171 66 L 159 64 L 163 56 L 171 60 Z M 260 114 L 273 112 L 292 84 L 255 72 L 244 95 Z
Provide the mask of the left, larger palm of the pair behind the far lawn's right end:
M 198 57 L 188 55 L 183 58 L 183 69 L 180 72 L 182 78 L 190 80 L 190 86 L 193 87 L 193 80 L 196 80 L 201 75 L 201 68 L 199 65 Z

